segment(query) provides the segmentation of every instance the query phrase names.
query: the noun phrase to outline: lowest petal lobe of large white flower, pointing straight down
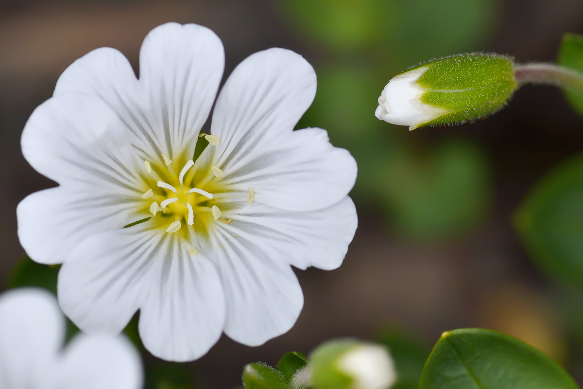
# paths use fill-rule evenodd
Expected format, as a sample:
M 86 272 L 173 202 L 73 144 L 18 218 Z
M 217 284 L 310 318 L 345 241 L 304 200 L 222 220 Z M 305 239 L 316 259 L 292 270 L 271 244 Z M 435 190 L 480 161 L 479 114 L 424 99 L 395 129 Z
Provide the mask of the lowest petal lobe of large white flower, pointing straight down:
M 176 362 L 194 360 L 219 340 L 225 302 L 216 269 L 176 234 L 166 234 L 152 264 L 140 311 L 139 332 L 153 355 Z

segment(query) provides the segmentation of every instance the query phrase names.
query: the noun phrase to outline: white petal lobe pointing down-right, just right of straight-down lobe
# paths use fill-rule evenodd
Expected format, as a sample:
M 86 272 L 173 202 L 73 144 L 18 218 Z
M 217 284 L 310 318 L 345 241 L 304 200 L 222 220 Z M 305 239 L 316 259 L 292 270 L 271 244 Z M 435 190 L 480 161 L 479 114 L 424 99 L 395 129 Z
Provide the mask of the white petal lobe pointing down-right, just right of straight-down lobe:
M 217 228 L 203 253 L 219 270 L 226 299 L 225 334 L 239 343 L 258 346 L 293 327 L 304 296 L 291 267 L 269 257 L 262 240 L 238 237 Z

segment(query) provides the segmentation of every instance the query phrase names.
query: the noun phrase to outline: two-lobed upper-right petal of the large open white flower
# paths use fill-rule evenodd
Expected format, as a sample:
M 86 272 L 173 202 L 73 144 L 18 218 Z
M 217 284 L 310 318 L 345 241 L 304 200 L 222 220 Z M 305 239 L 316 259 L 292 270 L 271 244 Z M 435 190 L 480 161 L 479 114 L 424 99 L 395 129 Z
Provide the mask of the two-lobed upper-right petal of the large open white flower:
M 292 131 L 316 91 L 314 69 L 281 48 L 252 54 L 219 93 L 211 133 L 221 139 L 213 164 L 226 183 L 252 187 L 257 201 L 292 211 L 312 211 L 345 197 L 356 162 L 333 147 L 321 129 Z

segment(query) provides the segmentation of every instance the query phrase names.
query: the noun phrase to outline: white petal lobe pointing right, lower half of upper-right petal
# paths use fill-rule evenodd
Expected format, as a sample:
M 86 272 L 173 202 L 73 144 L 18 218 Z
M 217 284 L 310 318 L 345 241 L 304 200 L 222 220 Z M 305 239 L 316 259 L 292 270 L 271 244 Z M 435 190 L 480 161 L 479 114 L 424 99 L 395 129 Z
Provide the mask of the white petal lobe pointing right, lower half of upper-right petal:
M 251 187 L 254 201 L 275 208 L 312 211 L 346 197 L 356 171 L 352 155 L 332 146 L 325 130 L 307 128 L 265 139 L 224 169 L 224 182 Z

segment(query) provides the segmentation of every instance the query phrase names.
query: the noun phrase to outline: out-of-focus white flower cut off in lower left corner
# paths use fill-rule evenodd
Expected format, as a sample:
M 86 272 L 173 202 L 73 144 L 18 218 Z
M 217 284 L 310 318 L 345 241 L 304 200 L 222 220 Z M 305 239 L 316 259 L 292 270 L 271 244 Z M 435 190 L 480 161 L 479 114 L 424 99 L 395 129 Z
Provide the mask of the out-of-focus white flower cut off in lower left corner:
M 65 320 L 42 289 L 0 295 L 0 388 L 137 389 L 142 362 L 124 337 L 76 335 L 61 351 Z

